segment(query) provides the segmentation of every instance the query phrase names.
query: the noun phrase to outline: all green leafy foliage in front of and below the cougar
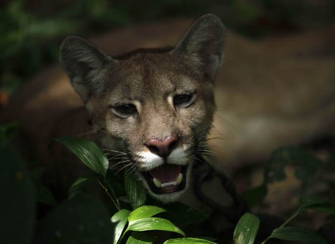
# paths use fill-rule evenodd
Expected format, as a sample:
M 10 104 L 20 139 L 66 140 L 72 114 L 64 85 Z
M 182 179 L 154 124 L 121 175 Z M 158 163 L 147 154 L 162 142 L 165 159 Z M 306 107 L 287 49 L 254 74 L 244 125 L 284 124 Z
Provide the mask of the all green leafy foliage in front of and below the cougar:
M 3 138 L 7 138 L 6 135 L 11 136 L 11 133 L 6 133 L 6 130 L 11 131 L 12 126 L 0 127 Z M 27 244 L 31 243 L 32 240 L 37 243 L 51 244 L 223 243 L 222 240 L 215 237 L 185 237 L 186 233 L 180 229 L 181 227 L 210 220 L 211 217 L 199 209 L 193 209 L 180 203 L 145 205 L 150 199 L 146 197 L 142 183 L 133 175 L 124 177 L 124 191 L 113 189 L 118 186 L 113 183 L 115 182 L 113 180 L 120 180 L 120 178 L 112 179 L 113 176 L 116 177 L 115 172 L 111 173 L 109 169 L 107 170 L 105 155 L 93 142 L 76 137 L 62 137 L 56 140 L 68 147 L 95 174 L 78 178 L 69 189 L 69 199 L 57 203 L 51 191 L 40 182 L 39 178 L 44 169 L 36 168 L 27 171 L 22 159 L 14 156 L 17 153 L 10 146 L 8 140 L 3 140 L 0 146 L 1 158 L 3 159 L 0 171 L 1 180 L 3 180 L 2 188 L 8 185 L 7 182 L 11 182 L 10 188 L 6 187 L 6 191 L 2 191 L 5 193 L 3 201 L 1 201 L 2 209 L 7 209 L 2 216 L 7 222 L 6 232 L 4 232 L 6 235 L 2 237 L 3 241 Z M 297 148 L 283 148 L 275 151 L 264 173 L 265 176 L 268 176 L 268 181 L 264 181 L 261 187 L 265 188 L 266 192 L 266 185 L 269 181 L 284 178 L 283 165 L 294 163 L 299 166 L 298 162 L 302 159 L 305 162 L 310 161 L 307 163 L 310 165 L 313 165 L 317 160 Z M 332 160 L 333 157 L 330 158 L 329 163 L 333 165 Z M 325 166 L 321 162 L 318 163 L 319 166 Z M 270 164 L 279 164 L 279 166 Z M 296 170 L 299 170 L 299 167 Z M 315 167 L 314 170 L 318 169 Z M 276 176 L 276 174 L 278 175 Z M 118 210 L 110 210 L 111 208 L 106 207 L 105 203 L 96 197 L 84 193 L 84 187 L 94 182 L 98 182 L 103 187 Z M 258 192 L 264 192 L 264 189 L 259 190 L 259 188 L 250 191 L 249 196 L 259 198 L 262 194 Z M 122 204 L 120 203 L 121 199 Z M 52 210 L 38 222 L 35 220 L 34 211 L 37 201 L 45 206 L 53 206 Z M 21 211 L 19 215 L 18 210 Z M 297 210 L 279 227 L 273 229 L 272 233 L 261 244 L 267 243 L 270 239 L 328 244 L 327 240 L 317 232 L 291 225 L 292 220 L 305 210 L 335 216 L 335 205 L 331 202 L 312 196 L 301 197 Z M 14 218 L 14 216 L 18 218 Z M 258 232 L 261 231 L 261 225 L 259 229 L 259 223 L 257 214 L 244 214 L 235 226 L 233 243 L 260 243 Z M 20 235 L 15 235 L 13 230 L 16 230 L 18 226 L 21 226 L 19 227 L 21 232 Z

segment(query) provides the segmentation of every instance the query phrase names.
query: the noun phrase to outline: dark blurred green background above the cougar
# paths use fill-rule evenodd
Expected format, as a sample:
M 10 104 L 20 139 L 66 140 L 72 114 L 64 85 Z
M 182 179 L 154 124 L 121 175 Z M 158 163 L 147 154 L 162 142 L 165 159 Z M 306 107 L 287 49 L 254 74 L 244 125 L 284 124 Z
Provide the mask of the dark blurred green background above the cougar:
M 34 73 L 59 58 L 70 34 L 211 12 L 252 38 L 319 28 L 335 22 L 334 0 L 13 0 L 1 1 L 0 104 Z

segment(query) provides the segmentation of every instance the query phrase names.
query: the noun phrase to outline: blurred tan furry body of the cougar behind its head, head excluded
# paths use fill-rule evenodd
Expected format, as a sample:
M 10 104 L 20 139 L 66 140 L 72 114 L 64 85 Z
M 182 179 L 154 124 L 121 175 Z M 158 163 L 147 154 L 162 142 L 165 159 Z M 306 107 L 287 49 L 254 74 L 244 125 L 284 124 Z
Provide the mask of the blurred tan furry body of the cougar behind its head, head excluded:
M 93 42 L 113 55 L 136 47 L 173 46 L 189 24 L 189 20 L 144 24 L 112 31 Z M 209 142 L 226 169 L 240 161 L 264 159 L 283 144 L 334 133 L 334 36 L 334 28 L 261 41 L 227 34 L 209 135 L 224 138 Z M 95 105 L 86 104 L 90 106 Z M 1 111 L 0 120 L 22 120 L 36 156 L 45 160 L 52 137 L 91 130 L 80 97 L 59 66 L 27 82 Z

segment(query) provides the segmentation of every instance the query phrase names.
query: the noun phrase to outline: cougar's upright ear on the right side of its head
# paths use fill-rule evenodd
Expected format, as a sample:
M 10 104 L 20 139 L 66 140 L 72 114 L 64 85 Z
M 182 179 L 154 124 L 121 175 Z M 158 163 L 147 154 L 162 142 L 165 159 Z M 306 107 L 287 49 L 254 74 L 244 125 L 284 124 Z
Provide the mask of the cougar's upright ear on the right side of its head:
M 193 59 L 213 82 L 222 64 L 225 27 L 213 14 L 205 14 L 188 28 L 172 52 L 184 54 Z

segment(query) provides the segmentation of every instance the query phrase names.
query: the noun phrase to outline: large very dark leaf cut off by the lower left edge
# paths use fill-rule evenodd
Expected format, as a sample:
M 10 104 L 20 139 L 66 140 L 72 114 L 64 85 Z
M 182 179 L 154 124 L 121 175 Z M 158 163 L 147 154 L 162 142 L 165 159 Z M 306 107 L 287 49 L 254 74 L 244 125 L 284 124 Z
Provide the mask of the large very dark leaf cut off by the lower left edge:
M 35 225 L 36 195 L 19 153 L 0 146 L 1 243 L 30 244 Z

